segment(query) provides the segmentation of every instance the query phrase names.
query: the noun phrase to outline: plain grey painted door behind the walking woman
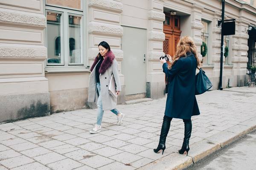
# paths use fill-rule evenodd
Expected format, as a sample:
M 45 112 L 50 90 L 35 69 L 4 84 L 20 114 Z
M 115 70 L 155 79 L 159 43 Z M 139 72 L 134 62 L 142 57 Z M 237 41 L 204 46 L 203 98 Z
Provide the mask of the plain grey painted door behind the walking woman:
M 147 30 L 123 26 L 121 39 L 124 58 L 125 95 L 146 93 Z

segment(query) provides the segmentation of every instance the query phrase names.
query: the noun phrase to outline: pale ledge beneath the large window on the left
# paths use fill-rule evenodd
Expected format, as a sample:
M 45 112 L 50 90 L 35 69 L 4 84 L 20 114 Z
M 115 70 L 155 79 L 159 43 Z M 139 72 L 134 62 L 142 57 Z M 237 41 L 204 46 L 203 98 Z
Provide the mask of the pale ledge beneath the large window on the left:
M 90 73 L 90 69 L 86 67 L 50 67 L 45 68 L 45 73 L 74 73 L 74 72 L 84 72 Z

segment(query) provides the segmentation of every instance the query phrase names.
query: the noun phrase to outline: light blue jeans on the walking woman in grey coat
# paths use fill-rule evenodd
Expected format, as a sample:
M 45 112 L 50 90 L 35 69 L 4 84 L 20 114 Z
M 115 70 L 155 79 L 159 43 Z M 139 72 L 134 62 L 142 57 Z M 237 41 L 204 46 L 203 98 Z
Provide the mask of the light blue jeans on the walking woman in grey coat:
M 96 122 L 96 124 L 97 124 L 97 125 L 101 125 L 102 117 L 103 117 L 104 111 L 102 110 L 102 96 L 101 96 L 101 93 L 100 93 L 100 83 L 99 83 L 99 82 L 96 83 L 96 87 L 97 87 L 98 92 L 99 92 L 99 99 L 98 99 L 98 102 L 97 102 L 97 106 L 98 106 L 98 116 L 97 116 L 97 122 Z M 118 111 L 117 109 L 112 109 L 111 112 L 113 112 L 116 116 L 117 116 L 118 113 L 119 113 L 119 111 Z

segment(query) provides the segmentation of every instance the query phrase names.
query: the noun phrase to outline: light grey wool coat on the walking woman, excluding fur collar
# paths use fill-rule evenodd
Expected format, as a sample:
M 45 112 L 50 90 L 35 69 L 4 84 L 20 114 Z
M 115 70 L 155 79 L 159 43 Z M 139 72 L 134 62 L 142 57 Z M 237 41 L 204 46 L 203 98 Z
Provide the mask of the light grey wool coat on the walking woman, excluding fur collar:
M 97 62 L 97 64 L 98 63 L 99 62 Z M 118 65 L 117 65 L 116 59 L 113 59 L 112 65 L 109 68 L 107 68 L 104 74 L 99 75 L 103 111 L 112 110 L 116 108 L 117 99 L 111 96 L 111 94 L 109 94 L 108 92 L 108 86 L 109 86 L 110 78 L 112 74 L 116 82 L 116 91 L 121 91 L 120 79 L 118 75 Z M 88 102 L 97 102 L 98 97 L 99 97 L 99 94 L 96 89 L 96 65 L 95 65 L 90 74 Z

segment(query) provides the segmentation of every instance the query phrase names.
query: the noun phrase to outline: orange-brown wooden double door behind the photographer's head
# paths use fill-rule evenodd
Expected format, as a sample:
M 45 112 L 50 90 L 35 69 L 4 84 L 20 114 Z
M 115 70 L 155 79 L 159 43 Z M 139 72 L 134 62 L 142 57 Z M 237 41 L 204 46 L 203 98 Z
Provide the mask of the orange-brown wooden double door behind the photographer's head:
M 165 40 L 163 41 L 163 52 L 171 56 L 175 55 L 177 43 L 180 40 L 180 17 L 165 13 L 166 19 L 163 22 L 163 32 Z

